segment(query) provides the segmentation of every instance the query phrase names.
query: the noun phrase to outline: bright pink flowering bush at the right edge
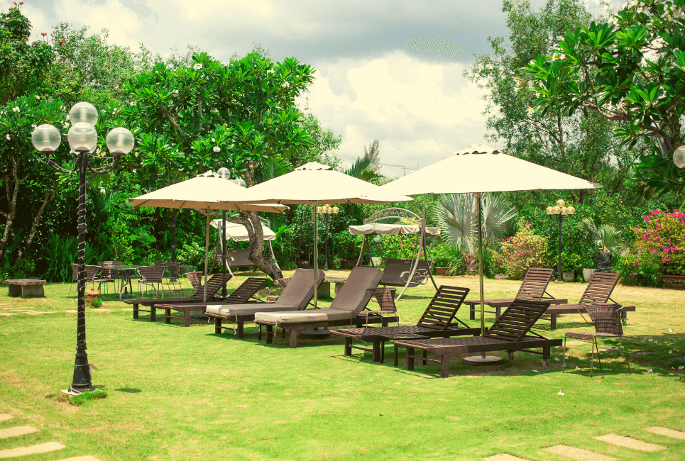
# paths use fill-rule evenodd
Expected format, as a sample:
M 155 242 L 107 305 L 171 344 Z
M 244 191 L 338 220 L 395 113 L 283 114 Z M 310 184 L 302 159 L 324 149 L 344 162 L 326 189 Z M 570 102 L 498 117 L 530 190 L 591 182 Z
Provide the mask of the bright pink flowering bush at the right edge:
M 633 229 L 637 255 L 661 262 L 664 274 L 685 275 L 685 214 L 654 210 L 643 219 L 644 227 Z

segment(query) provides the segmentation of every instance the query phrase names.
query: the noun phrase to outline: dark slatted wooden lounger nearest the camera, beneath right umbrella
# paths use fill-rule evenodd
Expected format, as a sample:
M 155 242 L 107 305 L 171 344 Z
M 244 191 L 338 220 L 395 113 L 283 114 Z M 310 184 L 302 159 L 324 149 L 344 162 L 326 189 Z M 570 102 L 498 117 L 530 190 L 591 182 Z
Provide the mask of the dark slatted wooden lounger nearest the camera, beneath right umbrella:
M 515 299 L 483 336 L 397 340 L 393 341 L 393 344 L 396 348 L 407 348 L 407 370 L 414 370 L 415 360 L 422 360 L 424 365 L 426 362 L 439 363 L 441 378 L 449 376 L 449 359 L 452 355 L 491 352 L 493 350 L 506 350 L 509 360 L 513 360 L 515 350 L 540 354 L 540 352 L 530 349 L 542 348 L 542 364 L 548 367 L 551 348 L 560 346 L 561 340 L 544 338 L 544 336 L 530 332 L 530 328 L 548 307 L 548 301 Z M 423 355 L 415 355 L 416 349 L 424 351 Z M 439 358 L 427 357 L 427 352 Z M 395 350 L 395 354 L 397 354 L 397 350 Z

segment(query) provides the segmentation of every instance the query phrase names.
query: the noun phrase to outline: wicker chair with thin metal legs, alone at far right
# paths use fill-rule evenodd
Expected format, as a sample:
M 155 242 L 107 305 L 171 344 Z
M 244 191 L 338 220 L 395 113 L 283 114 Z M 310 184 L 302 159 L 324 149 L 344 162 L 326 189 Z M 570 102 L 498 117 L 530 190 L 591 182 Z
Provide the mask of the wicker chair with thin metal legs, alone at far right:
M 625 364 L 628 365 L 628 374 L 630 374 L 628 351 L 625 350 L 625 342 L 623 341 L 623 328 L 621 327 L 620 319 L 620 313 L 623 310 L 623 307 L 619 304 L 586 304 L 584 308 L 594 323 L 595 333 L 569 331 L 569 333 L 564 335 L 564 367 L 562 367 L 561 370 L 563 371 L 566 367 L 566 338 L 590 341 L 592 343 L 590 377 L 592 377 L 593 363 L 595 360 L 595 349 L 597 349 L 599 369 L 602 370 L 602 360 L 599 358 L 599 346 L 597 345 L 597 338 L 621 338 L 623 353 L 625 354 Z

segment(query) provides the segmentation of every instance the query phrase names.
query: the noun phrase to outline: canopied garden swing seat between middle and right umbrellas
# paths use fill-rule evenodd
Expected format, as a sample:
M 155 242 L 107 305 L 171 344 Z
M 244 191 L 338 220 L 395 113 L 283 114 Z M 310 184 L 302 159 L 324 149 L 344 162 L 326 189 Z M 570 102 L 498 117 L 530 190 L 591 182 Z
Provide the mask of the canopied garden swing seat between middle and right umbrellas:
M 399 221 L 400 223 L 380 222 L 385 220 Z M 431 279 L 431 282 L 433 282 L 433 287 L 437 290 L 437 284 L 430 271 L 433 262 L 428 260 L 426 235 L 440 235 L 439 228 L 427 228 L 426 220 L 409 210 L 402 208 L 386 208 L 378 211 L 378 213 L 374 213 L 369 218 L 364 219 L 364 223 L 361 226 L 349 226 L 349 230 L 352 235 L 363 235 L 361 251 L 359 252 L 356 267 L 361 267 L 364 264 L 365 247 L 369 263 L 371 267 L 374 267 L 373 259 L 371 258 L 371 245 L 368 242 L 367 235 L 419 234 L 419 243 L 414 250 L 412 259 L 402 260 L 386 258 L 383 278 L 380 279 L 378 284 L 386 287 L 402 287 L 402 291 L 400 291 L 400 294 L 398 294 L 395 301 L 398 301 L 402 297 L 402 294 L 404 294 L 407 288 L 426 284 L 429 278 Z

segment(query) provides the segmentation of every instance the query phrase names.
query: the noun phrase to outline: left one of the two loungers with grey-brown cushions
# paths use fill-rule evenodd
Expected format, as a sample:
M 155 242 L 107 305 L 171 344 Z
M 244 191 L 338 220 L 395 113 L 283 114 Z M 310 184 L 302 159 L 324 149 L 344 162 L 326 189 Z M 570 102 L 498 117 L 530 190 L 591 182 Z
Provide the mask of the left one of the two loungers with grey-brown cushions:
M 317 284 L 320 286 L 324 281 L 324 271 L 319 270 L 317 277 Z M 282 279 L 280 279 L 282 280 Z M 275 283 L 278 283 L 277 280 Z M 298 269 L 295 274 L 290 277 L 283 293 L 278 296 L 275 303 L 259 304 L 238 304 L 233 306 L 225 306 L 224 304 L 214 304 L 207 306 L 207 311 L 204 315 L 214 318 L 214 333 L 221 334 L 221 330 L 234 330 L 238 338 L 243 338 L 243 328 L 245 323 L 254 321 L 257 312 L 269 311 L 301 311 L 307 308 L 309 301 L 314 298 L 314 270 L 313 269 Z M 223 321 L 234 323 L 236 328 L 229 328 L 221 326 Z

